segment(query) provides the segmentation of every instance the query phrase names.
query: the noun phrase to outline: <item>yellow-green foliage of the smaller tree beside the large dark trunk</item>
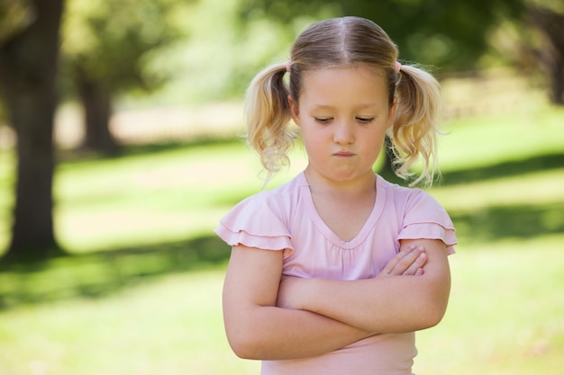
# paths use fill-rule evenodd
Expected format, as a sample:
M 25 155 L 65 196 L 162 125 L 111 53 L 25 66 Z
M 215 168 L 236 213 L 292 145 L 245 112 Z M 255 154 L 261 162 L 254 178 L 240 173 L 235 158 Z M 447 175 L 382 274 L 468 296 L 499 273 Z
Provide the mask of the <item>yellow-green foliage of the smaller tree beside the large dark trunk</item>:
M 111 92 L 154 90 L 167 76 L 150 70 L 159 49 L 181 36 L 176 0 L 70 0 L 62 26 L 63 66 Z

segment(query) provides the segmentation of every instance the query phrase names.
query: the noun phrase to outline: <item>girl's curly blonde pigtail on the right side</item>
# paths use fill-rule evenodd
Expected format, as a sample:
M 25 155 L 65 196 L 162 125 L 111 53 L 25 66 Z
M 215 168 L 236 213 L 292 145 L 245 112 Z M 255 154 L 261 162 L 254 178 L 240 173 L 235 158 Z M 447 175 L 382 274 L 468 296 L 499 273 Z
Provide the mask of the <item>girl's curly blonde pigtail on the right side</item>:
M 436 144 L 442 112 L 441 86 L 419 67 L 402 65 L 399 75 L 396 119 L 389 134 L 396 155 L 395 171 L 400 177 L 412 177 L 410 168 L 421 157 L 423 171 L 411 185 L 430 186 L 439 172 Z

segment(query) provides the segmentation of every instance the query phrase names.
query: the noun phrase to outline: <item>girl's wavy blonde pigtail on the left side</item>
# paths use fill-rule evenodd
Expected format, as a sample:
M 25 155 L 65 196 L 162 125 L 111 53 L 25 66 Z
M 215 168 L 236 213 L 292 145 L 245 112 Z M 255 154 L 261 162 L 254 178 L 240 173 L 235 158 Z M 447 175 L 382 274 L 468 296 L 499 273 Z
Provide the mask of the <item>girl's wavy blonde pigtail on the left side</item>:
M 257 151 L 268 171 L 267 182 L 289 165 L 287 150 L 296 138 L 288 129 L 291 116 L 284 82 L 286 71 L 286 64 L 266 67 L 250 82 L 245 96 L 247 143 Z

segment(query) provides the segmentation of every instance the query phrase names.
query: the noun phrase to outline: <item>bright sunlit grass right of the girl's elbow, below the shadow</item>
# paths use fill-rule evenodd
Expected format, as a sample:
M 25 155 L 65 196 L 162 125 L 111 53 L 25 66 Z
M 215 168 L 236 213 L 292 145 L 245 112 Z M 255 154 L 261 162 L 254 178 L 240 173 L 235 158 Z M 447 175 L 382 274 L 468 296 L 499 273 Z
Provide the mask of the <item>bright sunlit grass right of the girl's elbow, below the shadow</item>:
M 441 325 L 418 335 L 422 374 L 550 374 L 564 350 L 564 235 L 459 246 Z

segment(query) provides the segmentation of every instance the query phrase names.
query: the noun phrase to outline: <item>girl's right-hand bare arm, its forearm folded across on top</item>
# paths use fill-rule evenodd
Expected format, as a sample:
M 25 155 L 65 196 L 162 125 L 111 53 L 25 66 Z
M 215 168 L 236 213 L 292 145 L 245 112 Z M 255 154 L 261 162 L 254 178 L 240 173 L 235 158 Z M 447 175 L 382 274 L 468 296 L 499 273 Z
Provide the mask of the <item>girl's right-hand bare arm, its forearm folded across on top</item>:
M 424 246 L 423 274 L 405 277 L 386 272 L 388 277 L 358 281 L 289 278 L 281 286 L 278 303 L 381 334 L 435 326 L 450 293 L 446 246 L 439 240 L 421 239 L 402 241 L 401 248 L 413 245 Z

